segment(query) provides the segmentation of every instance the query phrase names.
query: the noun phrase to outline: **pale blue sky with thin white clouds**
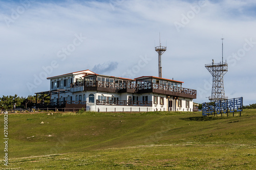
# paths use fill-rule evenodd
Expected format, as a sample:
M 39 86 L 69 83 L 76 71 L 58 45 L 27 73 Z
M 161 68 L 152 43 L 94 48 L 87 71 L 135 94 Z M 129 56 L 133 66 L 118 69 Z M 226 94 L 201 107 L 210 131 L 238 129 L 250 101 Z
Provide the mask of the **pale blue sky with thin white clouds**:
M 254 0 L 0 1 L 0 95 L 47 91 L 46 77 L 90 69 L 125 78 L 158 76 L 155 46 L 167 46 L 162 77 L 207 102 L 220 62 L 228 98 L 256 103 Z

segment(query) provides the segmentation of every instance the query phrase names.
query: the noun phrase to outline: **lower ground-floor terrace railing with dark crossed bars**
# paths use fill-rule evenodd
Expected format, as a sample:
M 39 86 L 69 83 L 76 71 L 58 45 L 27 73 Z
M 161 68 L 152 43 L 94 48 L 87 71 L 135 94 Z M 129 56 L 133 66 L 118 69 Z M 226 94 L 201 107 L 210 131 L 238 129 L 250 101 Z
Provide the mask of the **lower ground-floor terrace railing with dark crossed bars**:
M 152 106 L 151 101 L 96 100 L 96 105 Z

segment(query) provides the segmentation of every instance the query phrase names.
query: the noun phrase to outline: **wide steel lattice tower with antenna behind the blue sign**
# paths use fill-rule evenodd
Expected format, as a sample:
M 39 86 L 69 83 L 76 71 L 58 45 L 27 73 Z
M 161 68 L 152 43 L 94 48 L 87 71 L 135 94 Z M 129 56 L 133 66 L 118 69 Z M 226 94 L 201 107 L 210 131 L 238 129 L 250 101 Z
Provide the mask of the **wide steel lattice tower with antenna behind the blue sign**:
M 222 38 L 222 62 L 214 63 L 214 60 L 212 59 L 211 64 L 205 64 L 206 69 L 212 75 L 212 89 L 211 96 L 209 96 L 211 102 L 228 99 L 227 96 L 225 96 L 223 83 L 223 76 L 228 71 L 227 63 L 223 62 L 223 39 L 224 38 Z

